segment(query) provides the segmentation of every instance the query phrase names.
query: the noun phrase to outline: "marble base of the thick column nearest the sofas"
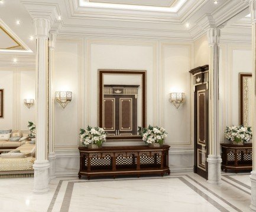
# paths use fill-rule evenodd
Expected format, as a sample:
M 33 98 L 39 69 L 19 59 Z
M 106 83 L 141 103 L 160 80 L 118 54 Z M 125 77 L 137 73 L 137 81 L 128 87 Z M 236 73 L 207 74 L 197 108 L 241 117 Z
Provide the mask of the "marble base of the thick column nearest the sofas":
M 35 161 L 34 168 L 34 194 L 44 194 L 49 190 L 49 167 L 48 160 Z

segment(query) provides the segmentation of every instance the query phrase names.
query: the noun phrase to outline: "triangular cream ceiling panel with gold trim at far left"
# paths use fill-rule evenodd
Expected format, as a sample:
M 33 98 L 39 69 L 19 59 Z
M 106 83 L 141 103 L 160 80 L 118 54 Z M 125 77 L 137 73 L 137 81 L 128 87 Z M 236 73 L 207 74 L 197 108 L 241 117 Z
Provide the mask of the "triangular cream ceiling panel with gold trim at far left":
M 0 25 L 1 50 L 25 50 L 24 47 L 9 32 Z

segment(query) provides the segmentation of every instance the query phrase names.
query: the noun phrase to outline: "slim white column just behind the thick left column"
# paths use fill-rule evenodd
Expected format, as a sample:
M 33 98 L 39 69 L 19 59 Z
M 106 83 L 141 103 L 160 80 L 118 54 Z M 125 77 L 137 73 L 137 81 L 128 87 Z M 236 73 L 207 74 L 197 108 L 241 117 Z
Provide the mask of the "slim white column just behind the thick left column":
M 50 32 L 49 38 L 49 153 L 48 160 L 50 163 L 50 179 L 55 178 L 55 159 L 54 152 L 54 90 L 53 90 L 53 74 L 54 74 L 54 50 L 57 34 Z

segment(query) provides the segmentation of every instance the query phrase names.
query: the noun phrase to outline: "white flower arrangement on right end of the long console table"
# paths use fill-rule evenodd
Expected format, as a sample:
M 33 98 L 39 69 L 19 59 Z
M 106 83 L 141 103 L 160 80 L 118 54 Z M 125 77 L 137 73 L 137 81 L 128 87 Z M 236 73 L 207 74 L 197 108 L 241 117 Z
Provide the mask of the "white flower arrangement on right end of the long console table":
M 162 145 L 167 137 L 167 132 L 163 127 L 151 126 L 148 128 L 138 127 L 138 132 L 142 136 L 142 141 L 146 144 L 158 143 Z

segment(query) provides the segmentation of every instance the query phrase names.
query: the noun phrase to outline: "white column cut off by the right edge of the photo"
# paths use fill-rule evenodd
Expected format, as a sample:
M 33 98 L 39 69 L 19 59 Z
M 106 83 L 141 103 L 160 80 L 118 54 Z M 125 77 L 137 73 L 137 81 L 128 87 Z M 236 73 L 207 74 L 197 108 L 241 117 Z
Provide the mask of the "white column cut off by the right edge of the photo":
M 251 11 L 252 21 L 252 108 L 256 105 L 256 87 L 255 87 L 255 59 L 256 59 L 256 1 L 249 1 L 249 9 Z M 251 211 L 256 211 L 256 112 L 252 110 L 252 172 L 251 178 Z

